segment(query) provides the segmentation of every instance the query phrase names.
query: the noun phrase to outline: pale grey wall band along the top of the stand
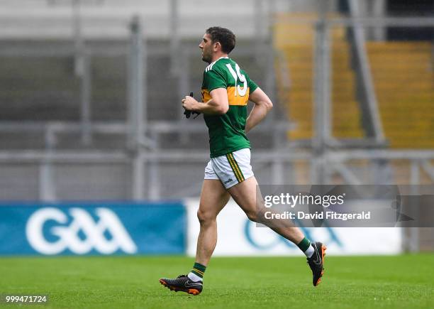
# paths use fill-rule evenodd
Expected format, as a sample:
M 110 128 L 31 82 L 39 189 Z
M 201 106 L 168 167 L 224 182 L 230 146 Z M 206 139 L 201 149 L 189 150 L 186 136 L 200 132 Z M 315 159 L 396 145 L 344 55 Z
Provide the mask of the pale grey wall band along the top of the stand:
M 325 1 L 325 0 L 321 0 Z M 330 0 L 330 9 L 335 7 Z M 0 1 L 1 38 L 73 38 L 72 1 Z M 169 38 L 172 0 L 82 0 L 82 33 L 87 38 L 126 38 L 132 16 L 142 17 L 150 38 Z M 206 5 L 204 5 L 206 3 Z M 316 11 L 318 0 L 179 0 L 179 26 L 183 37 L 196 37 L 209 26 L 225 26 L 239 37 L 252 38 L 267 28 L 267 12 Z M 258 18 L 259 11 L 265 13 Z

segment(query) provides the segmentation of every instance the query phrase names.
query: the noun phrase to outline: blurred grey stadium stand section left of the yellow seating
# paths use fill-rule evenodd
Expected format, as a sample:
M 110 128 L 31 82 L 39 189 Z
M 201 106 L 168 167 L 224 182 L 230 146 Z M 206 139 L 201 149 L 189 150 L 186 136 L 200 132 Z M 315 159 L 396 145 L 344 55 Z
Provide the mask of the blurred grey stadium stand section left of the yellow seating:
M 247 1 L 251 2 L 251 1 Z M 263 67 L 255 60 L 255 27 L 252 6 L 246 1 L 234 5 L 232 18 L 225 26 L 238 29 L 238 48 L 233 53 L 243 63 L 258 84 L 265 85 Z M 199 98 L 204 63 L 200 59 L 199 39 L 204 29 L 218 23 L 227 14 L 216 9 L 213 18 L 206 18 L 199 1 L 186 1 L 180 11 L 183 27 L 181 44 L 187 50 L 189 67 L 187 84 Z M 82 8 L 82 34 L 90 53 L 91 63 L 91 121 L 103 124 L 125 124 L 128 102 L 127 55 L 130 45 L 129 23 L 137 13 L 142 16 L 146 40 L 147 118 L 149 121 L 179 121 L 179 78 L 170 72 L 169 41 L 170 1 L 91 1 Z M 220 6 L 221 4 L 219 4 Z M 22 7 L 26 6 L 26 10 Z M 222 6 L 223 7 L 223 6 Z M 5 152 L 44 152 L 49 147 L 46 128 L 51 124 L 79 124 L 80 79 L 74 75 L 74 36 L 72 7 L 69 1 L 2 1 L 0 11 L 0 121 L 19 129 L 0 130 L 0 144 Z M 185 22 L 193 8 L 194 22 Z M 194 9 L 196 8 L 196 9 Z M 202 10 L 202 11 L 201 11 Z M 184 19 L 183 19 L 184 18 Z M 243 19 L 246 22 L 239 23 Z M 159 26 L 160 25 L 160 26 Z M 247 52 L 246 52 L 247 51 Z M 183 77 L 184 78 L 184 77 Z M 169 91 L 168 91 L 169 90 Z M 188 92 L 183 93 L 183 95 Z M 190 119 L 191 120 L 191 119 Z M 178 132 L 160 134 L 159 147 L 182 151 L 207 151 L 208 136 L 203 120 L 184 124 L 198 124 L 203 130 L 194 133 L 194 139 L 179 139 Z M 35 128 L 33 129 L 33 125 Z M 22 125 L 22 126 L 21 126 Z M 29 129 L 30 128 L 30 129 Z M 271 132 L 261 131 L 252 136 L 256 148 L 267 148 L 272 143 Z M 64 131 L 55 135 L 54 151 L 126 151 L 123 134 L 93 134 L 92 143 L 84 145 L 79 132 Z M 31 156 L 30 151 L 30 156 Z M 147 164 L 145 177 L 150 178 L 153 164 Z M 179 183 L 186 178 L 192 184 L 203 178 L 203 164 L 176 163 L 160 166 L 158 178 L 160 193 L 179 198 Z M 180 173 L 182 171 L 182 173 Z M 8 162 L 0 165 L 0 198 L 2 200 L 41 200 L 43 194 L 43 167 L 38 160 L 27 163 Z M 126 200 L 131 198 L 130 162 L 118 163 L 60 163 L 52 169 L 55 179 L 54 195 L 60 200 Z M 258 172 L 260 173 L 260 172 Z M 113 175 L 116 175 L 114 177 Z M 148 187 L 148 185 L 146 185 Z M 195 189 L 200 190 L 196 185 Z M 145 189 L 148 195 L 148 189 Z M 196 193 L 195 193 L 196 194 Z

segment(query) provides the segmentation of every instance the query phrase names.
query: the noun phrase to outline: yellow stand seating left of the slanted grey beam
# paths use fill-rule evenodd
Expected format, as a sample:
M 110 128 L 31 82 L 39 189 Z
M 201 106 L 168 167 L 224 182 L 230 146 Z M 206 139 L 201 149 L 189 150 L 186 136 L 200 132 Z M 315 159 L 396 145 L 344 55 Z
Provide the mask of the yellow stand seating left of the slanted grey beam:
M 289 13 L 287 20 L 317 19 L 311 13 Z M 333 136 L 338 138 L 360 138 L 364 136 L 360 107 L 355 97 L 355 71 L 351 67 L 350 45 L 344 27 L 335 27 L 332 38 L 332 121 Z M 311 139 L 313 124 L 313 45 L 314 28 L 311 23 L 277 23 L 274 28 L 274 45 L 284 55 L 288 65 L 289 96 L 281 97 L 288 107 L 289 119 L 296 129 L 289 132 L 289 139 Z M 282 82 L 279 94 L 282 96 Z

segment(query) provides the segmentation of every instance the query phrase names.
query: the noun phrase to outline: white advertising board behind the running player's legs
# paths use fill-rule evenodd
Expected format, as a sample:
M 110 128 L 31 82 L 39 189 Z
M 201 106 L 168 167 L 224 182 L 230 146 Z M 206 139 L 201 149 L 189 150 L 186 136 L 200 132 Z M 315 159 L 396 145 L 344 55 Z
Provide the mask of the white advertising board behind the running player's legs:
M 186 200 L 188 220 L 187 254 L 196 253 L 199 200 Z M 218 241 L 215 256 L 300 255 L 300 249 L 267 227 L 257 227 L 231 199 L 217 217 Z M 327 244 L 328 254 L 398 254 L 398 227 L 301 227 L 308 239 Z

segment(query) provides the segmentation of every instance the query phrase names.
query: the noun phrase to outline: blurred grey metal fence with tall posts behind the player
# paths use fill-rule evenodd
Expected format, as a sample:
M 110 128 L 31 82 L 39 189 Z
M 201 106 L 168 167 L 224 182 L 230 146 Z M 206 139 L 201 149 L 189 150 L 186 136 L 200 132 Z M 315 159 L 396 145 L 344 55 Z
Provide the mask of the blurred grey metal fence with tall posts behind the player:
M 176 15 L 176 11 L 173 11 Z M 263 13 L 263 12 L 262 12 Z M 265 12 L 267 18 L 272 11 Z M 357 11 L 353 12 L 357 15 Z M 259 14 L 259 13 L 258 13 Z M 176 17 L 176 16 L 175 16 Z M 177 18 L 174 18 L 175 20 Z M 260 18 L 261 19 L 261 18 Z M 434 160 L 434 151 L 421 150 L 386 150 L 384 149 L 384 133 L 379 120 L 377 99 L 365 50 L 365 34 L 367 27 L 371 26 L 434 26 L 433 18 L 329 18 L 320 15 L 315 21 L 292 18 L 284 21 L 282 17 L 274 18 L 273 23 L 309 23 L 315 29 L 313 42 L 314 67 L 314 96 L 313 111 L 315 111 L 315 133 L 313 139 L 305 144 L 299 144 L 286 139 L 286 132 L 294 129 L 297 124 L 289 124 L 285 117 L 274 114 L 257 128 L 257 134 L 268 134 L 272 141 L 267 140 L 266 147 L 258 145 L 258 150 L 252 155 L 252 164 L 255 173 L 262 183 L 329 183 L 345 182 L 359 184 L 364 182 L 392 183 L 396 181 L 391 170 L 394 160 L 404 162 L 410 166 L 408 170 L 408 183 L 417 184 L 423 181 L 433 182 L 434 172 L 431 161 Z M 330 111 L 333 104 L 330 74 L 333 68 L 330 65 L 330 29 L 335 26 L 347 26 L 354 32 L 357 61 L 361 67 L 362 90 L 365 92 L 367 107 L 374 128 L 372 136 L 363 141 L 342 141 L 330 134 L 333 123 Z M 243 53 L 265 59 L 262 68 L 265 75 L 265 89 L 274 93 L 274 61 L 277 59 L 277 70 L 286 67 L 286 63 L 274 51 L 272 32 L 268 22 L 265 27 L 267 33 L 261 41 L 259 48 L 245 48 Z M 174 30 L 176 23 L 174 23 Z M 143 39 L 145 38 L 145 39 Z M 179 48 L 182 42 L 172 40 L 171 54 L 181 50 L 177 57 L 188 63 L 192 57 L 189 50 Z M 195 46 L 196 47 L 196 46 Z M 198 132 L 204 133 L 204 125 L 187 123 L 182 119 L 182 109 L 179 105 L 177 111 L 179 119 L 176 121 L 150 121 L 147 110 L 150 103 L 147 97 L 147 76 L 150 74 L 146 55 L 159 53 L 147 46 L 146 37 L 142 33 L 140 20 L 135 18 L 130 24 L 130 41 L 128 48 L 105 50 L 105 53 L 124 55 L 128 83 L 127 97 L 128 112 L 126 121 L 92 121 L 91 120 L 91 78 L 89 73 L 89 59 L 91 50 L 84 48 L 80 54 L 82 70 L 80 77 L 81 89 L 81 121 L 79 122 L 32 122 L 16 123 L 3 121 L 0 131 L 41 131 L 45 136 L 45 149 L 0 151 L 0 166 L 3 175 L 16 175 L 16 179 L 26 180 L 26 176 L 10 168 L 23 168 L 28 166 L 32 170 L 33 178 L 27 183 L 34 188 L 28 192 L 22 190 L 21 195 L 13 193 L 14 185 L 8 179 L 3 179 L 4 190 L 1 199 L 40 199 L 65 200 L 81 199 L 101 200 L 109 199 L 152 199 L 181 198 L 199 195 L 203 168 L 208 160 L 206 143 L 204 146 L 191 150 L 189 147 L 161 146 L 165 134 L 175 134 L 177 145 L 182 140 L 194 139 Z M 100 50 L 101 51 L 101 50 Z M 14 53 L 13 48 L 4 50 L 3 55 Z M 89 54 L 90 53 L 90 54 Z M 74 50 L 66 50 L 65 55 L 75 55 Z M 31 55 L 34 57 L 35 55 Z M 189 66 L 183 67 L 182 72 L 188 72 Z M 175 77 L 176 72 L 174 70 Z M 289 72 L 289 76 L 291 72 Z M 189 80 L 178 77 L 177 92 L 179 97 L 190 91 Z M 275 102 L 279 99 L 276 97 Z M 283 104 L 283 102 L 280 102 Z M 284 110 L 284 109 L 283 109 Z M 270 132 L 272 132 L 270 134 Z M 57 141 L 62 134 L 80 134 L 83 149 L 79 147 L 67 150 L 57 147 Z M 109 136 L 110 139 L 125 141 L 123 147 L 116 149 L 99 149 L 92 146 L 95 135 Z M 117 136 L 117 137 L 116 137 Z M 369 137 L 373 137 L 369 139 Z M 269 139 L 265 138 L 265 139 Z M 258 139 L 265 143 L 265 139 Z M 179 142 L 179 143 L 178 143 Z M 122 143 L 121 143 L 122 144 Z M 369 149 L 367 148 L 369 147 Z M 357 163 L 358 162 L 358 163 Z M 360 165 L 360 162 L 365 162 Z M 100 166 L 101 169 L 96 168 Z M 94 167 L 94 170 L 89 167 Z M 74 174 L 74 170 L 79 170 Z M 379 177 L 379 174 L 381 177 Z M 338 176 L 338 177 L 336 177 Z M 82 178 L 80 180 L 80 178 Z M 108 178 L 111 180 L 109 181 Z M 100 185 L 96 183 L 100 182 Z M 23 181 L 26 183 L 26 181 Z M 91 190 L 91 189 L 94 190 Z

